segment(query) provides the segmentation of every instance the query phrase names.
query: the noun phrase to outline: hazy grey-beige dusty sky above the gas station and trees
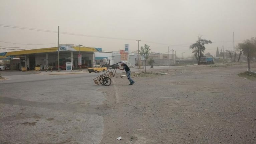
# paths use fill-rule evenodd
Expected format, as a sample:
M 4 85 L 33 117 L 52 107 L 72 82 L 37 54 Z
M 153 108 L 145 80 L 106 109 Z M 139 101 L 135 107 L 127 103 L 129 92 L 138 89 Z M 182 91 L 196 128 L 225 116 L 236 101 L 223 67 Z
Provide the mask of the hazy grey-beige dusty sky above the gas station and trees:
M 222 45 L 233 50 L 233 32 L 235 45 L 256 37 L 256 0 L 0 0 L 0 52 L 56 47 L 58 26 L 75 34 L 61 33 L 60 43 L 103 51 L 128 43 L 133 52 L 141 40 L 154 52 L 167 53 L 169 45 L 179 57 L 192 55 L 189 45 L 202 35 L 213 41 L 205 52 L 215 55 Z

